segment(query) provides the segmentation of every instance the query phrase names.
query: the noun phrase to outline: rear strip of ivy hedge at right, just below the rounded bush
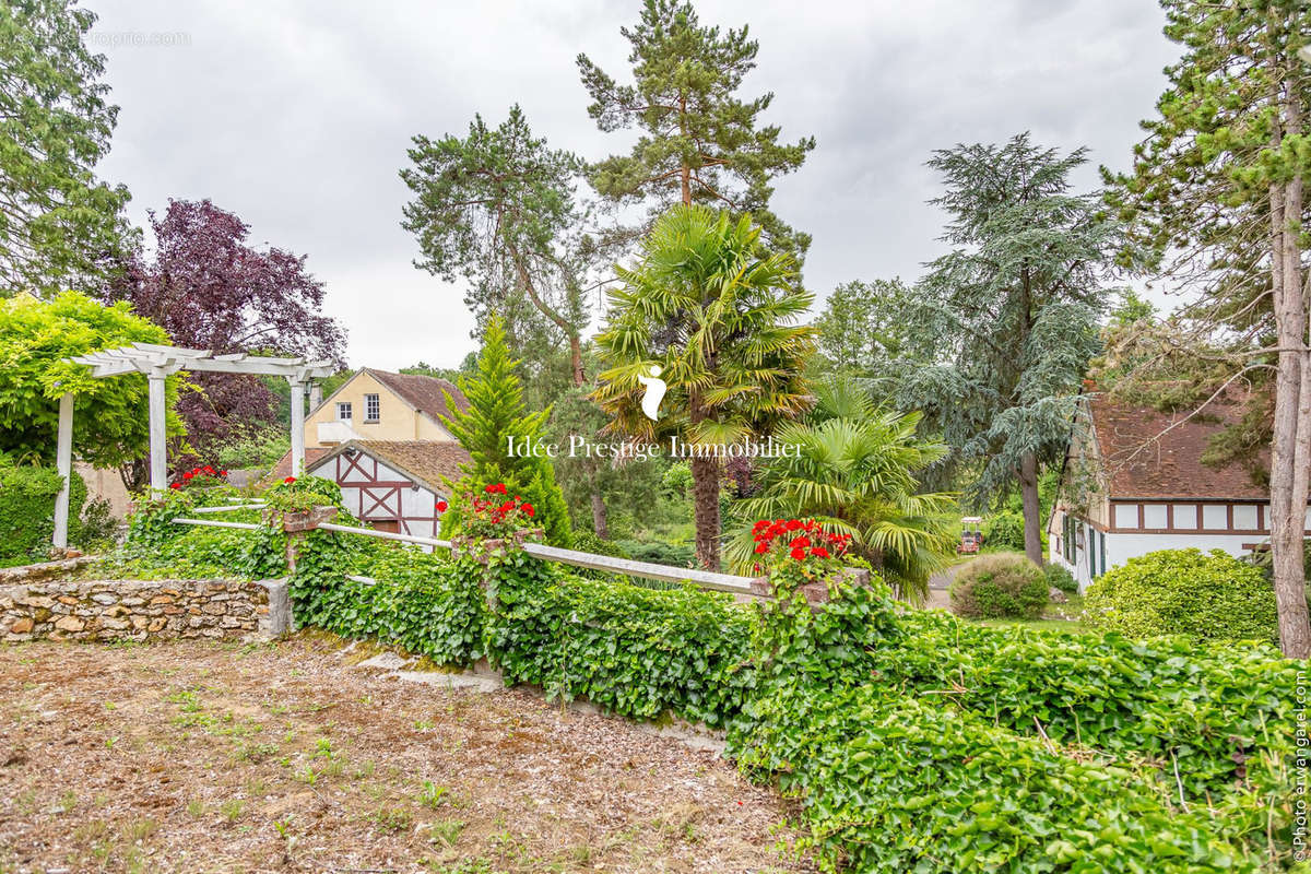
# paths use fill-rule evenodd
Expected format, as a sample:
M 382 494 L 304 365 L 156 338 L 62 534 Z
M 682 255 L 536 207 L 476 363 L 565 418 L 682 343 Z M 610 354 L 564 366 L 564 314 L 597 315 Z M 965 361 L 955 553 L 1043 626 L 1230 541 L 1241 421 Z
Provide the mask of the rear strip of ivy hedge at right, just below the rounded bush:
M 885 681 L 948 691 L 944 700 L 1012 731 L 1041 726 L 1057 743 L 1177 764 L 1190 798 L 1244 774 L 1273 780 L 1255 751 L 1291 750 L 1295 670 L 1269 646 L 988 628 L 940 611 L 898 624 L 898 646 L 871 653 Z

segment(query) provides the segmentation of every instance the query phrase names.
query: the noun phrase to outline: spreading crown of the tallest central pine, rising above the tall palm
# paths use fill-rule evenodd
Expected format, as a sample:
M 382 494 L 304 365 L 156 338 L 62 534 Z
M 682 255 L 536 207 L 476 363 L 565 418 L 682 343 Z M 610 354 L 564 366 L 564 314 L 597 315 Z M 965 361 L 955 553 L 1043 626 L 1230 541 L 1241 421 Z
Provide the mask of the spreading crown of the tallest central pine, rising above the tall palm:
M 629 155 L 589 168 L 593 187 L 620 206 L 653 202 L 653 218 L 673 203 L 750 212 L 770 246 L 800 263 L 810 235 L 770 212 L 771 182 L 801 166 L 815 140 L 779 143 L 777 126 L 758 126 L 772 93 L 737 97 L 759 51 L 747 28 L 721 34 L 700 24 L 691 3 L 646 0 L 637 25 L 620 33 L 633 47 L 633 84 L 616 83 L 578 55 L 593 100 L 587 113 L 603 131 L 638 127 L 644 135 Z

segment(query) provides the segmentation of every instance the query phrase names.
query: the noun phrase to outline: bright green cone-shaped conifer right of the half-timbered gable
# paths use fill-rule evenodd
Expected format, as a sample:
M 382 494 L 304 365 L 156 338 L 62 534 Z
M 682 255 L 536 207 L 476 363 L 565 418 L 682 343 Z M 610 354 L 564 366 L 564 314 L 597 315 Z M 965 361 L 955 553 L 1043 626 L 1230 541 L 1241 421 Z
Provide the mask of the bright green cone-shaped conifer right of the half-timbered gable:
M 510 358 L 501 320 L 488 321 L 482 351 L 473 376 L 460 377 L 460 390 L 469 401 L 460 410 L 447 394 L 446 408 L 452 413 L 442 417 L 442 423 L 468 451 L 469 461 L 460 468 L 464 477 L 450 484 L 456 494 L 479 491 L 493 482 L 503 482 L 514 494 L 523 495 L 536 510 L 536 522 L 545 531 L 547 541 L 557 546 L 573 542 L 569 506 L 556 484 L 551 460 L 510 451 L 511 439 L 517 446 L 534 443 L 543 435 L 543 426 L 551 410 L 532 413 L 523 402 L 523 389 Z M 442 533 L 460 527 L 460 507 L 452 507 L 442 516 Z

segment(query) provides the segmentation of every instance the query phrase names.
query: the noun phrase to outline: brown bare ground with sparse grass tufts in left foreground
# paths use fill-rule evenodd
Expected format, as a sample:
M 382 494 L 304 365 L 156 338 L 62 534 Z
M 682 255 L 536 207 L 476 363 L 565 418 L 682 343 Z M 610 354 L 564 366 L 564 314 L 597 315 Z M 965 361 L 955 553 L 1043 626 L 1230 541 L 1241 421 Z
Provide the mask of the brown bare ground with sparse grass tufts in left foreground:
M 0 646 L 0 871 L 808 871 L 703 751 L 324 642 Z

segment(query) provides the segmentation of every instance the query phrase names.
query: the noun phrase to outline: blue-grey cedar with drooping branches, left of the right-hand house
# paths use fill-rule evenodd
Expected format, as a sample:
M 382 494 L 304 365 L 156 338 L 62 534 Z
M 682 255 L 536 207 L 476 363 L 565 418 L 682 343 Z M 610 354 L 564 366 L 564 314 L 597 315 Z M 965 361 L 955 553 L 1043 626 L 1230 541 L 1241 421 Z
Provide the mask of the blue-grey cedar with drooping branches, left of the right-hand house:
M 947 180 L 932 200 L 952 215 L 957 246 L 907 295 L 912 356 L 899 401 L 941 428 L 958 464 L 977 465 L 974 499 L 1016 484 L 1025 553 L 1042 563 L 1038 473 L 1065 452 L 1097 320 L 1101 273 L 1120 241 L 1091 195 L 1068 194 L 1084 149 L 1059 156 L 1029 143 L 933 153 Z

